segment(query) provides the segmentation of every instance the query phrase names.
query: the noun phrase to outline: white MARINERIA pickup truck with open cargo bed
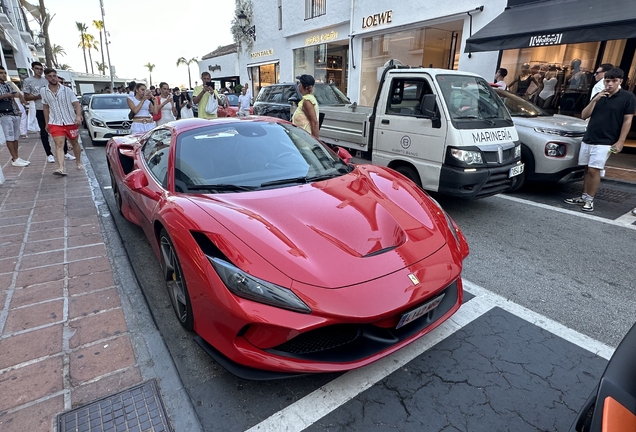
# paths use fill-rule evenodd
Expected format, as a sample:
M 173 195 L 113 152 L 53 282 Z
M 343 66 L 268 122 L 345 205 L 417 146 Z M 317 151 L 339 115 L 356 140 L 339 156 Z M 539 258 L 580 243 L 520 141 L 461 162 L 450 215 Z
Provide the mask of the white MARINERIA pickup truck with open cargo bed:
M 510 114 L 482 77 L 388 66 L 373 107 L 320 107 L 320 138 L 423 189 L 465 198 L 506 192 L 523 172 Z

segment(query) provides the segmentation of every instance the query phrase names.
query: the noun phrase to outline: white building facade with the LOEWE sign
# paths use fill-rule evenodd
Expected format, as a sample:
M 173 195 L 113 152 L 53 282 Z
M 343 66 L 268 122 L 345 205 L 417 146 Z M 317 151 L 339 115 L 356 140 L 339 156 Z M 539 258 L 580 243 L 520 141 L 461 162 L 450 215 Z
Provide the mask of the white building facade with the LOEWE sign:
M 465 41 L 506 7 L 506 0 L 276 0 L 253 2 L 256 41 L 239 49 L 241 81 L 258 90 L 311 74 L 352 101 L 370 103 L 378 71 L 391 59 L 494 76 L 497 52 L 469 55 Z

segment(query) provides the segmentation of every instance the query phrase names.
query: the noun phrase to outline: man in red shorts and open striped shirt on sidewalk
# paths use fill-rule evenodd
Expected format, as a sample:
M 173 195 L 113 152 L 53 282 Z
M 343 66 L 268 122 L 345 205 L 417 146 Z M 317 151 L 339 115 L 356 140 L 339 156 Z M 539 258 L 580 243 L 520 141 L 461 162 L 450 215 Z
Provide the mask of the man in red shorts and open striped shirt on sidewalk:
M 53 174 L 65 176 L 64 169 L 64 139 L 67 138 L 73 146 L 77 169 L 84 169 L 80 160 L 79 125 L 82 124 L 82 108 L 77 100 L 77 95 L 70 88 L 60 84 L 55 69 L 45 69 L 44 76 L 49 85 L 42 87 L 42 105 L 44 108 L 44 120 L 46 130 L 55 142 L 55 155 L 58 169 Z

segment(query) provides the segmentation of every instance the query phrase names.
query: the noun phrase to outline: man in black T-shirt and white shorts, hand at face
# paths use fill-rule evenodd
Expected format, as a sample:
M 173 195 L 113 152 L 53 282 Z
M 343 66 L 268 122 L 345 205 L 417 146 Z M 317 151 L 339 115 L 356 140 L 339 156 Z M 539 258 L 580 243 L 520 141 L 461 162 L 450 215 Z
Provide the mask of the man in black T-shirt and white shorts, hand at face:
M 605 90 L 598 92 L 581 113 L 583 120 L 590 119 L 579 153 L 579 165 L 586 165 L 583 195 L 565 200 L 568 204 L 582 205 L 581 210 L 586 212 L 594 211 L 594 195 L 601 183 L 601 171 L 610 152 L 623 150 L 636 111 L 636 96 L 621 89 L 621 69 L 605 72 L 604 82 Z

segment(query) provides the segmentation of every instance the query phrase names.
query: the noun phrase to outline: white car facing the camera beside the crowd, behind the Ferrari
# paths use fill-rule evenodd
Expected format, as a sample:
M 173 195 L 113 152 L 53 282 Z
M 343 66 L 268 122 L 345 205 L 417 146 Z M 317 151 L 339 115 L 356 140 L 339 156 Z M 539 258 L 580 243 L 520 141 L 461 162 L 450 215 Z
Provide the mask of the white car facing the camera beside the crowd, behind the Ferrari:
M 119 135 L 128 135 L 132 121 L 128 118 L 130 109 L 123 94 L 94 94 L 85 105 L 84 122 L 91 143 L 106 144 Z

